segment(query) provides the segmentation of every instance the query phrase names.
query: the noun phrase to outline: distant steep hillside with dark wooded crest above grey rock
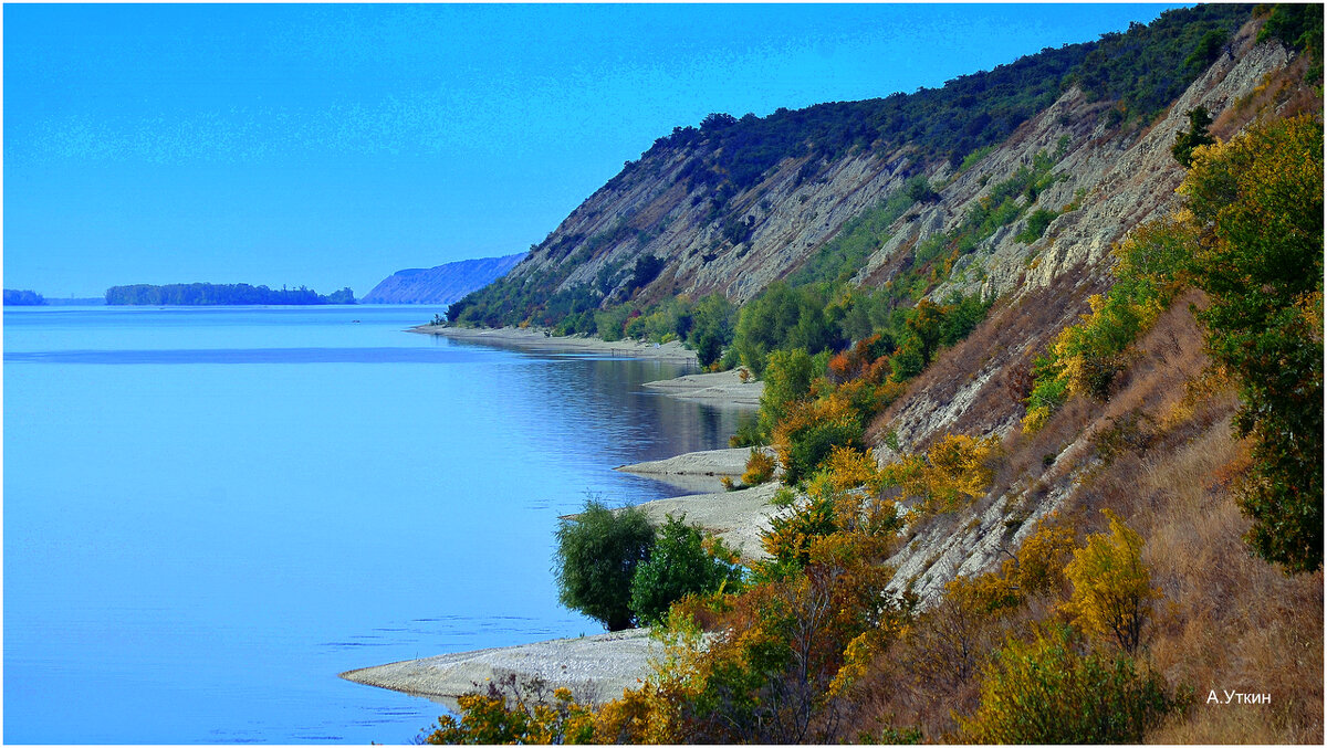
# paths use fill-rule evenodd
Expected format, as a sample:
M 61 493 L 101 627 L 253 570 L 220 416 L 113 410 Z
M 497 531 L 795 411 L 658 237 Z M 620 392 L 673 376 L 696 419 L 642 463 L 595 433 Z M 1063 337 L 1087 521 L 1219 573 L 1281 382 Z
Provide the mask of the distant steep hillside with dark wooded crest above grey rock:
M 1229 56 L 1229 38 L 1247 17 L 1247 5 L 1172 11 L 1149 27 L 1047 49 L 942 89 L 766 118 L 711 114 L 699 129 L 660 138 L 533 247 L 506 282 L 467 297 L 451 317 L 556 325 L 585 310 L 644 308 L 675 294 L 721 292 L 746 302 L 825 249 L 833 255 L 832 240 L 863 214 L 886 212 L 882 223 L 900 227 L 898 214 L 930 204 L 929 186 L 949 184 L 987 149 L 1006 150 L 1002 143 L 1039 113 L 1046 119 L 1048 107 L 1066 115 L 1060 134 L 1080 151 L 1066 162 L 1071 154 L 1058 151 L 1056 139 L 1043 143 L 1055 156 L 1050 166 L 1101 168 L 1208 64 Z M 1013 168 L 1001 167 L 1030 155 L 1009 154 L 942 191 L 946 207 L 928 211 L 918 225 L 929 232 L 937 216 L 959 220 L 954 208 L 977 179 L 1007 178 Z M 917 218 L 902 220 L 910 227 Z M 892 232 L 884 233 L 881 241 Z M 876 264 L 888 253 L 877 252 Z M 602 333 L 591 328 L 576 329 Z

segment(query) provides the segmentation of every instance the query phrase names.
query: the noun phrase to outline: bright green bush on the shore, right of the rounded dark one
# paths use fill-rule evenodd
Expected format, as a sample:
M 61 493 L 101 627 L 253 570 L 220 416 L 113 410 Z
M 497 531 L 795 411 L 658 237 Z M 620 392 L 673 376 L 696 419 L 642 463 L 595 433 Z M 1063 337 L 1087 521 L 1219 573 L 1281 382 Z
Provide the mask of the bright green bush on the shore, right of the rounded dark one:
M 705 549 L 701 530 L 686 517 L 673 517 L 658 529 L 654 549 L 632 577 L 632 613 L 642 623 L 662 621 L 674 601 L 689 594 L 718 592 L 742 581 L 742 570 Z M 719 545 L 719 552 L 725 549 Z M 727 553 L 725 553 L 727 556 Z

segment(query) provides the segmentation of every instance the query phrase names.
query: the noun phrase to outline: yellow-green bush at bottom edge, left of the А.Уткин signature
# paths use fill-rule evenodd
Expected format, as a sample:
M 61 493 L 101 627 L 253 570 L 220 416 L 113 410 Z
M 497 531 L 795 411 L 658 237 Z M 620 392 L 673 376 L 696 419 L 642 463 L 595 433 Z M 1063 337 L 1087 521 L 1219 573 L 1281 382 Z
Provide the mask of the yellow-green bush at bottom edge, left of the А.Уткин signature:
M 959 717 L 973 743 L 1141 743 L 1165 715 L 1184 708 L 1188 690 L 1139 672 L 1132 658 L 1082 654 L 1066 626 L 1010 641 L 985 671 L 982 702 Z

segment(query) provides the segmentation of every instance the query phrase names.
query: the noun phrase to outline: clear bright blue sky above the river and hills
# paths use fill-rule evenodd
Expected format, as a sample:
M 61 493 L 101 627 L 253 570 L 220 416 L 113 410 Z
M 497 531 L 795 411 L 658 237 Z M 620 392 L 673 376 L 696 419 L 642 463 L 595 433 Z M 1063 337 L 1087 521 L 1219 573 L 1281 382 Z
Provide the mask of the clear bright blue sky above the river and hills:
M 4 286 L 364 294 L 520 252 L 677 125 L 940 86 L 1173 5 L 4 7 Z

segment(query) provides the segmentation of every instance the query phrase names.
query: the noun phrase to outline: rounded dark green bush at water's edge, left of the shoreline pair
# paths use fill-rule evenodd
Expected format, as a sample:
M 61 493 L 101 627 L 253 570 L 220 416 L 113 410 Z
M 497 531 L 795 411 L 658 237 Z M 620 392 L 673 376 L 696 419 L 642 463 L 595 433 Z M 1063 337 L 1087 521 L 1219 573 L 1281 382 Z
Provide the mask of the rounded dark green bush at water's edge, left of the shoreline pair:
M 654 525 L 644 509 L 609 509 L 594 499 L 557 528 L 553 576 L 557 599 L 604 623 L 609 631 L 630 627 L 632 580 L 654 546 Z

